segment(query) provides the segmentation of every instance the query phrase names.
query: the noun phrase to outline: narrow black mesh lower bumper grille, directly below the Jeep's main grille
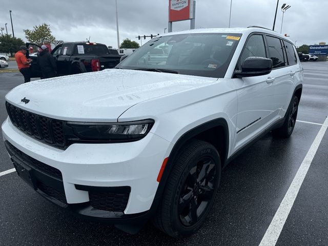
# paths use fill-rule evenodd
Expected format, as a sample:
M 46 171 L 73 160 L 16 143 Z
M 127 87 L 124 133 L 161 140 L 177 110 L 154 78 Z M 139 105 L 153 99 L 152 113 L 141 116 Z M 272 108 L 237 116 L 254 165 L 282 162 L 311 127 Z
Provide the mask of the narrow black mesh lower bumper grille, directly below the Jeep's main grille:
M 18 150 L 16 147 L 14 147 L 8 141 L 6 141 L 6 144 L 11 148 L 11 151 L 13 152 L 13 154 L 15 156 L 17 156 L 20 159 L 23 159 L 23 160 L 27 161 L 29 166 L 31 166 L 31 168 L 34 168 L 39 172 L 46 173 L 46 174 L 48 174 L 49 176 L 51 176 L 53 178 L 56 178 L 56 179 L 59 179 L 59 180 L 63 181 L 63 176 L 61 176 L 61 172 L 58 169 L 53 168 L 51 166 L 48 166 L 45 163 L 43 163 L 41 161 L 38 161 L 38 160 L 32 158 L 31 156 L 28 156 L 27 154 L 25 154 L 22 151 Z

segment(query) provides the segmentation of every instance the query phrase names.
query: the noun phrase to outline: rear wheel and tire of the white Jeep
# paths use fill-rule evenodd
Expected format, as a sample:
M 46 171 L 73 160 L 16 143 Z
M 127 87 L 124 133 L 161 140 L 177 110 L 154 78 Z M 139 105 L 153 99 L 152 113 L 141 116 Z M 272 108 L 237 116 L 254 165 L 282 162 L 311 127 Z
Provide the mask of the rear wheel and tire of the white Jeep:
M 277 128 L 272 131 L 272 133 L 281 138 L 289 138 L 295 127 L 296 118 L 297 118 L 297 111 L 298 111 L 298 97 L 294 96 L 291 104 L 286 112 L 286 118 L 283 122 L 282 127 Z

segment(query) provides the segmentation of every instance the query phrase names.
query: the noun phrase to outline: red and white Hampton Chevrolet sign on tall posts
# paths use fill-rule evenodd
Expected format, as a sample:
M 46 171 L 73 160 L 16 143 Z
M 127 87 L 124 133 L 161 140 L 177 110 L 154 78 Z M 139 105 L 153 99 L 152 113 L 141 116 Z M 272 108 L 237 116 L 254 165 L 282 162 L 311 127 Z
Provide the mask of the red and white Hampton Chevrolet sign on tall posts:
M 193 0 L 169 0 L 169 22 L 192 18 Z

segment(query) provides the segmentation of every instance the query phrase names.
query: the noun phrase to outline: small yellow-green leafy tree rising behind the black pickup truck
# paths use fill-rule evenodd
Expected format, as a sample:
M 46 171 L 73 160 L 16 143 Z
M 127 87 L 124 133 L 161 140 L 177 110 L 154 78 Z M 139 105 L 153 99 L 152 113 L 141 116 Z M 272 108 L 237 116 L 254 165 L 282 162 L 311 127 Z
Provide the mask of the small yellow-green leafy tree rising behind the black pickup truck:
M 25 37 L 29 42 L 36 43 L 38 45 L 43 45 L 45 43 L 51 44 L 56 40 L 56 38 L 51 34 L 50 26 L 46 23 L 34 26 L 33 30 L 23 30 L 25 32 Z

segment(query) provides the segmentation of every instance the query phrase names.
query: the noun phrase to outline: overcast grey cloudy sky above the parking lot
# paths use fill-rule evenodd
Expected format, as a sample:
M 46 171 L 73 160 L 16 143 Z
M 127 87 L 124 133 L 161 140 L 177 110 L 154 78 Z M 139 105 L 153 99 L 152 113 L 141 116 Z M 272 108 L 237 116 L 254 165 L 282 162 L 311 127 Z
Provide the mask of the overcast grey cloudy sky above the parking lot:
M 328 43 L 327 0 L 279 0 L 275 30 L 280 32 L 283 3 L 286 11 L 282 33 L 296 46 Z M 138 35 L 163 33 L 168 27 L 169 0 L 117 0 L 119 38 L 136 42 Z M 231 27 L 251 25 L 272 28 L 277 0 L 232 0 Z M 15 37 L 26 40 L 23 29 L 47 23 L 57 40 L 90 41 L 117 47 L 115 0 L 0 0 L 0 27 L 8 23 L 9 10 Z M 196 28 L 228 27 L 230 0 L 196 0 Z M 173 23 L 173 31 L 189 29 L 190 22 Z M 6 31 L 6 30 L 4 30 Z M 144 40 L 142 40 L 144 43 Z

